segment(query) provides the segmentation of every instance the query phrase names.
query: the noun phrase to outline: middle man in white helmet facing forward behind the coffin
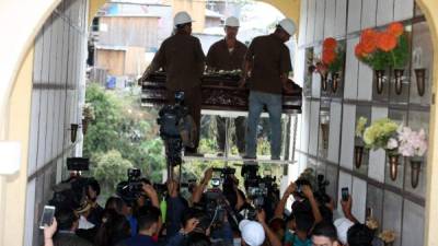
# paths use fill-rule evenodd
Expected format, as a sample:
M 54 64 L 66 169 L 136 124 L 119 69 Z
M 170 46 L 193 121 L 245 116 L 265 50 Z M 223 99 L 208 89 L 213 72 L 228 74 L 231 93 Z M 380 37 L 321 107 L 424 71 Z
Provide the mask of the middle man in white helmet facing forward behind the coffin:
M 239 42 L 235 36 L 239 32 L 239 20 L 234 16 L 226 20 L 226 37 L 216 42 L 207 54 L 207 69 L 211 71 L 242 70 L 243 60 L 246 54 L 246 46 Z M 218 127 L 217 141 L 219 151 L 223 153 L 226 147 L 226 118 L 217 116 Z M 240 154 L 245 152 L 245 117 L 238 117 L 234 120 L 235 138 Z

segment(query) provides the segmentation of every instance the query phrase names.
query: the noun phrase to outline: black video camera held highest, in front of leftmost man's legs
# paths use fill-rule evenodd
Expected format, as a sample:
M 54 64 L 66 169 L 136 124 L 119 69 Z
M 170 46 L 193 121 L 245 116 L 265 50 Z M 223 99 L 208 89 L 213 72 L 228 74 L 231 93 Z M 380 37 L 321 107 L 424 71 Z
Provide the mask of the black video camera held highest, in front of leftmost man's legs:
M 165 144 L 168 165 L 176 166 L 182 163 L 181 152 L 184 147 L 193 147 L 192 139 L 196 126 L 184 106 L 184 92 L 175 93 L 175 104 L 165 105 L 159 112 L 157 119 L 160 125 L 160 137 Z

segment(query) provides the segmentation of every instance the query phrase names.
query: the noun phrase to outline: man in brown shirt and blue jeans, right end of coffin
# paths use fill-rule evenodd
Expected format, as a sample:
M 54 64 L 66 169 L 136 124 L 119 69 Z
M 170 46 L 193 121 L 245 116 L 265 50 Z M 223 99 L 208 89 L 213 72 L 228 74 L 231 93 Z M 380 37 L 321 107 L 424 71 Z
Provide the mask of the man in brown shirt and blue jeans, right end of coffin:
M 246 131 L 245 159 L 256 159 L 256 133 L 258 119 L 266 106 L 270 125 L 270 159 L 279 160 L 281 152 L 281 107 L 283 90 L 292 70 L 289 48 L 285 45 L 296 32 L 290 19 L 280 21 L 270 35 L 253 39 L 245 57 L 244 74 L 249 77 L 250 98 Z M 245 80 L 241 86 L 245 84 Z

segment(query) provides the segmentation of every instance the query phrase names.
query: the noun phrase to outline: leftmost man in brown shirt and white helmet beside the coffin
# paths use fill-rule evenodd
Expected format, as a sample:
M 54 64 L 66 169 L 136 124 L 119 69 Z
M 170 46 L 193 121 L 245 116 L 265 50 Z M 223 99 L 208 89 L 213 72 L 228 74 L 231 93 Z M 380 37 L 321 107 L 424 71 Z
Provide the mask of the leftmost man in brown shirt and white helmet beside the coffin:
M 205 67 L 205 55 L 200 42 L 191 35 L 192 22 L 192 17 L 184 11 L 175 14 L 175 34 L 163 42 L 152 63 L 143 74 L 143 78 L 147 78 L 150 72 L 160 68 L 164 69 L 170 104 L 175 102 L 175 92 L 184 92 L 184 104 L 188 107 L 188 113 L 197 128 L 194 148 L 186 148 L 186 154 L 196 153 L 199 144 L 200 106 L 203 103 L 200 77 Z

